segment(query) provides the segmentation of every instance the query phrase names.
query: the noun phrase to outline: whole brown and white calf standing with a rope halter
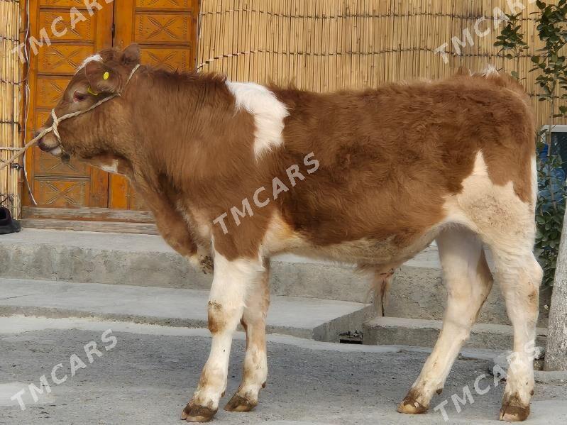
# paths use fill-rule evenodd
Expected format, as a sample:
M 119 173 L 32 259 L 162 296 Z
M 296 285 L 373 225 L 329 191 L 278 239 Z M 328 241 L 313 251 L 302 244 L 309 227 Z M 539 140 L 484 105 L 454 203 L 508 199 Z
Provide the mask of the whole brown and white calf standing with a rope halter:
M 183 419 L 207 421 L 218 409 L 239 322 L 243 380 L 226 409 L 258 403 L 272 255 L 354 263 L 380 291 L 392 268 L 434 240 L 444 326 L 398 410 L 423 413 L 444 387 L 492 287 L 485 244 L 514 326 L 500 418 L 528 416 L 541 268 L 534 120 L 517 82 L 467 72 L 317 94 L 143 65 L 128 81 L 139 60 L 136 45 L 89 58 L 55 114 L 121 96 L 61 122 L 60 140 L 48 133 L 39 145 L 128 176 L 173 248 L 203 267 L 212 253 L 211 353 Z

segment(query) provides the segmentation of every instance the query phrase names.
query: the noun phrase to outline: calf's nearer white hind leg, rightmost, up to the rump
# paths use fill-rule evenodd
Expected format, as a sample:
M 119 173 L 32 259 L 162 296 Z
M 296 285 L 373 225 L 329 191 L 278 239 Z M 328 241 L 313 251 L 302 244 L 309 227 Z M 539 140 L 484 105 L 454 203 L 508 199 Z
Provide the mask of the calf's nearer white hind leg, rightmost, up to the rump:
M 532 151 L 532 136 L 525 148 Z M 532 153 L 533 155 L 533 153 Z M 507 166 L 514 164 L 509 162 Z M 531 199 L 522 200 L 516 182 L 504 186 L 488 177 L 482 153 L 475 172 L 463 180 L 463 191 L 448 201 L 448 209 L 466 217 L 470 226 L 490 247 L 495 277 L 502 289 L 506 311 L 514 331 L 514 348 L 500 410 L 500 419 L 522 421 L 529 415 L 534 391 L 534 339 L 539 306 L 541 267 L 532 249 L 535 239 L 534 205 L 537 192 L 535 158 L 532 156 Z M 505 162 L 504 162 L 505 164 Z M 528 176 L 524 176 L 524 179 Z M 524 180 L 524 183 L 526 181 Z M 524 193 L 524 196 L 526 194 Z

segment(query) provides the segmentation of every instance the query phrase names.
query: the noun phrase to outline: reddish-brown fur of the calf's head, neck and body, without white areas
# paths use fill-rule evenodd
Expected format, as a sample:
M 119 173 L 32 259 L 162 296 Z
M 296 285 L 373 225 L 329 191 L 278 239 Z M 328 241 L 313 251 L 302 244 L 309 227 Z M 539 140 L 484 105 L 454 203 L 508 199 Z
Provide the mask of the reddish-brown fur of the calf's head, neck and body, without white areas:
M 131 60 L 116 50 L 102 55 L 123 88 Z M 81 72 L 72 79 L 58 115 L 77 108 L 72 94 L 89 81 Z M 273 177 L 289 181 L 286 168 L 301 165 L 309 152 L 319 170 L 303 173 L 304 181 L 240 226 L 229 216 L 226 235 L 212 226 L 216 250 L 229 259 L 256 257 L 275 211 L 315 246 L 391 238 L 402 248 L 444 218 L 444 197 L 461 190 L 479 150 L 495 184 L 512 181 L 520 199 L 532 197 L 534 123 L 512 79 L 458 74 L 335 94 L 272 89 L 290 111 L 285 149 L 261 160 L 251 153 L 253 116 L 235 109 L 223 77 L 144 66 L 121 98 L 62 123 L 62 142 L 68 153 L 93 162 L 123 162 L 160 232 L 185 255 L 208 241 L 197 241 L 194 229 L 184 231 L 177 204 L 211 223 L 258 187 L 270 192 Z M 46 136 L 41 145 L 50 147 L 53 139 Z

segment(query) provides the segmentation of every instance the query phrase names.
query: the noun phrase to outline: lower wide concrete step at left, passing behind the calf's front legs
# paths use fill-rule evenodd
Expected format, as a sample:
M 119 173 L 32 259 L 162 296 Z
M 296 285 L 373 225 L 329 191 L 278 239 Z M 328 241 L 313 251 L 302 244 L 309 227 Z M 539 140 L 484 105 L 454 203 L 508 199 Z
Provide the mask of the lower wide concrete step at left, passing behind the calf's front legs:
M 0 316 L 96 317 L 163 326 L 207 327 L 208 291 L 0 279 Z M 316 341 L 360 330 L 368 304 L 273 296 L 267 330 Z

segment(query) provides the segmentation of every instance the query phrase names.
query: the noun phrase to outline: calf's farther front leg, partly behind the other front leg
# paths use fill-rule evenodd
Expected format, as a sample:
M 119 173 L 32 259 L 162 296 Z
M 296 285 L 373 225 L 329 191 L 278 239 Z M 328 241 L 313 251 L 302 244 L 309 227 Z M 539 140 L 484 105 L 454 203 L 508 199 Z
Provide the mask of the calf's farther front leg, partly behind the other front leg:
M 268 377 L 266 353 L 266 314 L 270 306 L 270 263 L 265 262 L 265 272 L 248 290 L 246 307 L 241 324 L 246 331 L 246 355 L 242 382 L 238 391 L 224 407 L 230 412 L 250 412 L 258 404 L 258 393 L 265 387 Z

